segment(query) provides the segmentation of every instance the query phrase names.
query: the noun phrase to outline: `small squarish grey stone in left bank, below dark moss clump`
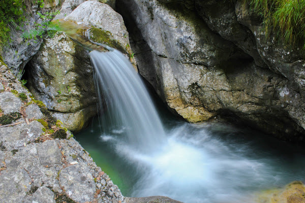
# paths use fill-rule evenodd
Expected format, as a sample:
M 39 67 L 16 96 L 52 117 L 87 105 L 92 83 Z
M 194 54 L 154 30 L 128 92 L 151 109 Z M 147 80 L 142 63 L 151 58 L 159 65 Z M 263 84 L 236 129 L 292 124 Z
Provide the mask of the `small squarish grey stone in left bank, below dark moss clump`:
M 42 165 L 52 166 L 62 162 L 62 153 L 55 141 L 45 141 L 37 147 L 37 151 Z

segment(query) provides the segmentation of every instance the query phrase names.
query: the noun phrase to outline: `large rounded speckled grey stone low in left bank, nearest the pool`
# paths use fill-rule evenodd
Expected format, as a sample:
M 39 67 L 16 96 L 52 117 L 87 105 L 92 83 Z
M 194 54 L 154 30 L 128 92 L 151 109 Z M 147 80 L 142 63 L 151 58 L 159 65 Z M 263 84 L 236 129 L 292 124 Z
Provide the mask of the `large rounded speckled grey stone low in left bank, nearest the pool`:
M 60 171 L 59 183 L 77 202 L 92 201 L 96 186 L 92 175 L 82 164 L 70 165 Z

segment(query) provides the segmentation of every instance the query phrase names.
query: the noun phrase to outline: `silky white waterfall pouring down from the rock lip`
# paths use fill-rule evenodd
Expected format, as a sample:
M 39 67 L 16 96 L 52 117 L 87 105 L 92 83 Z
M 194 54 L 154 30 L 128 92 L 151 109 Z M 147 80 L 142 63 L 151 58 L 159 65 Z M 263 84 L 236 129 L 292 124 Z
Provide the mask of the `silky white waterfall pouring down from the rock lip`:
M 142 152 L 153 151 L 165 140 L 159 115 L 130 61 L 117 50 L 90 52 L 104 133 L 123 134 Z

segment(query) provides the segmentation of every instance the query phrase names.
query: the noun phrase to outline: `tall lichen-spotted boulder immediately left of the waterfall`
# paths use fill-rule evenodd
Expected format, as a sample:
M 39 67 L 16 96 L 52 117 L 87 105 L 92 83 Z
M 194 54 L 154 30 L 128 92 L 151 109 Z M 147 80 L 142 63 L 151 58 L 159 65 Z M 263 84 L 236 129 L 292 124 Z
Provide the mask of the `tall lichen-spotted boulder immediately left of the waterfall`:
M 29 90 L 69 130 L 82 129 L 97 113 L 88 53 L 65 32 L 44 39 L 27 71 Z

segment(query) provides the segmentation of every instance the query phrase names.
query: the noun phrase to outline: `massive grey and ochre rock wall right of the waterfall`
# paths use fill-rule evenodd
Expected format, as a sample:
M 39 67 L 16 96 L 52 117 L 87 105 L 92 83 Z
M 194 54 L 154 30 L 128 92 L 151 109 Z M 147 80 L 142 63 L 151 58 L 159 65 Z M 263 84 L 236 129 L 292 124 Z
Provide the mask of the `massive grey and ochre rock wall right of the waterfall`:
M 305 140 L 305 61 L 227 1 L 118 0 L 140 74 L 191 122 L 219 116 Z

